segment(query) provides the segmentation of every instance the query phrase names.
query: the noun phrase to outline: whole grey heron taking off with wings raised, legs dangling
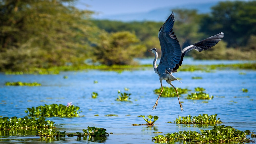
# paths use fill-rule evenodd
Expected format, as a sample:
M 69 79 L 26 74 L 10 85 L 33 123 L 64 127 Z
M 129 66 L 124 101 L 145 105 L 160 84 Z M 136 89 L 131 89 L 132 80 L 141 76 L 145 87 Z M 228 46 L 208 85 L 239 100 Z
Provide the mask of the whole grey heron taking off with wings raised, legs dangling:
M 159 38 L 159 42 L 162 50 L 162 55 L 161 55 L 161 59 L 158 66 L 156 66 L 156 60 L 157 60 L 156 48 L 152 48 L 148 50 L 155 54 L 155 59 L 153 61 L 154 71 L 159 75 L 159 80 L 162 88 L 156 100 L 156 103 L 153 106 L 153 109 L 154 108 L 156 109 L 158 104 L 158 99 L 163 92 L 163 85 L 162 85 L 163 80 L 166 80 L 166 82 L 175 89 L 176 94 L 178 96 L 178 100 L 179 100 L 178 91 L 171 83 L 172 81 L 175 81 L 178 79 L 172 73 L 177 72 L 177 69 L 182 64 L 183 57 L 185 56 L 185 54 L 192 49 L 195 49 L 199 52 L 201 52 L 202 50 L 207 50 L 208 48 L 215 46 L 219 41 L 221 41 L 221 38 L 224 37 L 224 33 L 221 32 L 214 36 L 208 37 L 200 42 L 197 42 L 193 45 L 187 46 L 184 49 L 181 49 L 179 41 L 176 38 L 176 35 L 174 35 L 173 25 L 174 25 L 174 15 L 172 12 L 172 14 L 168 17 L 168 19 L 165 21 L 165 23 L 163 24 L 163 26 L 160 28 L 158 32 L 158 38 Z M 182 107 L 182 104 L 180 103 L 180 100 L 179 100 L 179 105 L 182 112 L 183 107 Z

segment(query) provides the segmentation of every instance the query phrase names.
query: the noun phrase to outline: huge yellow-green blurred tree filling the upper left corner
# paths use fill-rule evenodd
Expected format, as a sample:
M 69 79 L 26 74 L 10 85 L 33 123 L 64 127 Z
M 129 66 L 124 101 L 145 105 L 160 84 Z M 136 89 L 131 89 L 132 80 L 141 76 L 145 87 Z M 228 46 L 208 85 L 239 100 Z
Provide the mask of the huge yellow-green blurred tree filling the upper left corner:
M 0 70 L 83 63 L 97 29 L 92 12 L 68 4 L 74 1 L 0 2 Z

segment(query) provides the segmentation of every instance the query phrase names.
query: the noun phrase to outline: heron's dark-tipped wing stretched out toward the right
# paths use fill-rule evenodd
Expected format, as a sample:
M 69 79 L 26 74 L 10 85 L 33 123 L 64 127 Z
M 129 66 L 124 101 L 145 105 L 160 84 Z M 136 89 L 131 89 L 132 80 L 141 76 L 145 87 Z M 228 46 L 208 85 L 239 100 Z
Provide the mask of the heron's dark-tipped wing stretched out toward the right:
M 224 37 L 224 33 L 221 32 L 219 34 L 216 34 L 214 36 L 211 36 L 211 37 L 208 37 L 200 42 L 197 42 L 193 45 L 190 45 L 190 46 L 187 46 L 185 47 L 184 49 L 182 49 L 182 56 L 181 56 L 181 60 L 179 61 L 179 63 L 176 65 L 175 68 L 173 68 L 173 71 L 176 71 L 179 66 L 181 66 L 182 64 L 182 61 L 183 61 L 183 57 L 185 56 L 185 54 L 192 50 L 192 49 L 195 49 L 199 52 L 201 52 L 202 50 L 207 50 L 213 46 L 215 46 L 219 41 L 221 41 L 221 38 Z

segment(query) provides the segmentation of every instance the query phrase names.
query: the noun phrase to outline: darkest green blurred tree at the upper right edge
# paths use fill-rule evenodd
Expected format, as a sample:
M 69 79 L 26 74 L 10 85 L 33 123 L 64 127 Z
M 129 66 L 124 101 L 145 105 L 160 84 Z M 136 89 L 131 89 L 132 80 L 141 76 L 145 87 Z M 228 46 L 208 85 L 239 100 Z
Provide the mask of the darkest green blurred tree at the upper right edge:
M 245 46 L 256 34 L 256 1 L 225 1 L 212 7 L 201 19 L 200 32 L 208 35 L 224 32 L 228 47 Z

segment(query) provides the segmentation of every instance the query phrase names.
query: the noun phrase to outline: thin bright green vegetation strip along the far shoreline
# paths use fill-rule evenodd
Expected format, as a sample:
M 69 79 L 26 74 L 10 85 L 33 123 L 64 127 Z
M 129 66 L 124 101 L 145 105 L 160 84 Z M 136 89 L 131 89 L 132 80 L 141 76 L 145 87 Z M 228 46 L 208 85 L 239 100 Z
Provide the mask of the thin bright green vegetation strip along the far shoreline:
M 145 70 L 152 68 L 152 64 L 144 64 L 144 65 L 99 65 L 99 66 L 91 66 L 91 65 L 80 65 L 80 66 L 59 66 L 59 67 L 51 67 L 49 69 L 45 68 L 30 68 L 29 70 L 24 71 L 5 71 L 6 75 L 19 75 L 19 74 L 59 74 L 61 71 L 82 71 L 82 70 L 102 70 L 102 71 L 132 71 L 132 70 Z M 213 65 L 182 65 L 179 68 L 179 71 L 204 71 L 210 72 L 213 70 L 256 70 L 256 63 L 236 63 L 236 64 L 213 64 Z

